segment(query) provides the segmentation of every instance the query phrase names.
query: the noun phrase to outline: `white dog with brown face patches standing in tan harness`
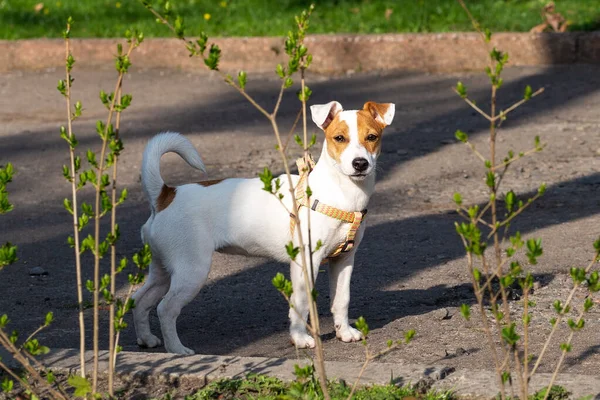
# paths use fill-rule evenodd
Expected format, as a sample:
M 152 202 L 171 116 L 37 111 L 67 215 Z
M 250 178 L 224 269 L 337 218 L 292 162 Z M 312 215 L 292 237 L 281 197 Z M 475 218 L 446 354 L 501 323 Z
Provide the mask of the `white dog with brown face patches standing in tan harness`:
M 362 110 L 343 111 L 340 103 L 332 101 L 310 109 L 313 121 L 325 132 L 325 143 L 310 173 L 310 207 L 305 199 L 304 203 L 299 199 L 305 206 L 300 212 L 301 227 L 306 244 L 304 221 L 310 212 L 313 247 L 318 240 L 323 243 L 313 254 L 313 275 L 316 278 L 319 265 L 328 259 L 336 336 L 352 342 L 362 336 L 348 323 L 350 275 L 365 229 L 360 221 L 375 186 L 381 135 L 392 122 L 395 107 L 391 103 L 367 102 Z M 200 156 L 185 137 L 162 133 L 148 143 L 142 163 L 142 186 L 152 214 L 142 227 L 142 240 L 150 245 L 153 259 L 146 283 L 133 296 L 133 316 L 138 344 L 159 346 L 160 339 L 150 332 L 148 314 L 160 301 L 157 311 L 165 349 L 193 354 L 181 344 L 176 321 L 181 309 L 206 282 L 213 252 L 290 262 L 285 245 L 290 241 L 297 243 L 298 235 L 290 230 L 288 212 L 273 194 L 263 190 L 258 178 L 166 186 L 160 175 L 160 158 L 168 152 L 179 154 L 189 165 L 205 172 Z M 299 178 L 293 178 L 296 185 Z M 287 178 L 284 175 L 280 179 L 283 202 L 292 210 Z M 289 313 L 290 335 L 297 347 L 314 347 L 315 341 L 304 324 L 308 299 L 299 263 L 300 255 L 291 262 L 291 301 L 295 310 L 290 309 Z

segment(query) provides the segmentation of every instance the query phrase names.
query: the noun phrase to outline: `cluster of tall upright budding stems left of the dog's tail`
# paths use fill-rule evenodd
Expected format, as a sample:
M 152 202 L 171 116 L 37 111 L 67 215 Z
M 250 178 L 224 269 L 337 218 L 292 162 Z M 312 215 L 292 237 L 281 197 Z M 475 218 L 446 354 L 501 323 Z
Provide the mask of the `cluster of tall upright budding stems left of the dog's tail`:
M 89 167 L 82 169 L 81 157 L 77 155 L 78 141 L 73 132 L 72 122 L 82 114 L 83 105 L 81 102 L 71 104 L 71 86 L 73 84 L 72 70 L 75 64 L 75 58 L 70 50 L 70 32 L 73 25 L 72 18 L 67 21 L 67 28 L 64 31 L 65 39 L 65 79 L 60 80 L 57 86 L 58 91 L 66 99 L 67 105 L 67 127 L 60 128 L 60 136 L 69 146 L 70 165 L 63 166 L 63 176 L 71 184 L 71 198 L 65 199 L 63 205 L 65 209 L 73 216 L 73 236 L 68 238 L 68 243 L 74 248 L 75 266 L 77 271 L 77 296 L 79 307 L 79 331 L 80 331 L 80 376 L 72 376 L 69 383 L 76 389 L 76 395 L 85 396 L 88 393 L 97 394 L 98 387 L 98 350 L 99 350 L 99 305 L 100 296 L 103 297 L 106 304 L 109 305 L 109 363 L 108 363 L 108 395 L 114 396 L 114 368 L 116 364 L 117 353 L 120 351 L 119 336 L 120 332 L 127 327 L 123 321 L 125 314 L 134 306 L 131 294 L 133 287 L 143 282 L 143 271 L 148 267 L 151 260 L 150 248 L 146 245 L 142 250 L 136 253 L 132 259 L 137 266 L 138 271 L 128 275 L 129 290 L 124 299 L 116 297 L 116 277 L 123 272 L 128 265 L 128 259 L 122 258 L 117 261 L 116 244 L 120 236 L 119 225 L 117 224 L 116 211 L 127 199 L 127 189 L 120 192 L 117 185 L 117 164 L 119 156 L 124 149 L 120 133 L 121 113 L 125 111 L 132 102 L 130 94 L 123 93 L 123 78 L 131 67 L 130 56 L 132 51 L 138 47 L 144 40 L 144 35 L 136 31 L 127 31 L 125 38 L 127 47 L 124 49 L 122 44 L 117 45 L 115 56 L 115 69 L 117 71 L 117 82 L 112 92 L 100 91 L 99 97 L 102 104 L 108 111 L 106 122 L 98 121 L 96 123 L 96 132 L 100 137 L 100 150 L 95 152 L 88 149 L 85 153 L 85 159 Z M 114 124 L 113 124 L 114 120 Z M 78 206 L 78 192 L 86 186 L 94 189 L 93 205 L 87 202 L 81 202 Z M 104 216 L 110 216 L 110 230 L 105 237 L 101 237 L 101 220 Z M 89 233 L 83 239 L 80 238 L 80 232 L 85 229 L 93 220 L 93 234 Z M 92 364 L 92 382 L 89 383 L 85 371 L 85 324 L 84 324 L 84 300 L 83 300 L 83 281 L 81 274 L 81 254 L 89 251 L 94 259 L 94 279 L 88 280 L 85 287 L 93 296 L 93 364 Z M 101 276 L 101 260 L 110 255 L 110 271 Z

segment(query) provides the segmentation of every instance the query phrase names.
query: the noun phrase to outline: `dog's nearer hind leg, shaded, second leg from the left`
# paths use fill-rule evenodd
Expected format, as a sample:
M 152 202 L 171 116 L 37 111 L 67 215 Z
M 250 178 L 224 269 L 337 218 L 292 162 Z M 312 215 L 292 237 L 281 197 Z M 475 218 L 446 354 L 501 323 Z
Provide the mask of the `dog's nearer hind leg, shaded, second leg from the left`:
M 157 308 L 165 349 L 169 353 L 194 354 L 194 350 L 185 347 L 179 340 L 177 317 L 206 282 L 211 261 L 212 249 L 204 249 L 196 256 L 181 258 L 172 265 L 171 287 Z

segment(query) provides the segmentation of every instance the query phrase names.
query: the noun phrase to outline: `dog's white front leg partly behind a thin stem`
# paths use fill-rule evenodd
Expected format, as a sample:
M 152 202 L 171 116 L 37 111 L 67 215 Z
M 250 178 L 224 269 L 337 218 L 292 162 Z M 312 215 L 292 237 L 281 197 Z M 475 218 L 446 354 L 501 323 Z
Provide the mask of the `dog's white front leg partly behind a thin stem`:
M 308 277 L 310 284 L 310 290 L 312 291 L 314 281 L 317 280 L 317 274 L 319 273 L 319 265 L 323 259 L 321 251 L 313 254 L 313 272 L 312 276 Z M 306 254 L 308 255 L 308 247 Z M 308 258 L 308 257 L 307 257 Z M 296 260 L 300 261 L 300 255 L 297 256 Z M 310 274 L 310 262 L 306 263 Z M 290 307 L 290 336 L 292 343 L 301 349 L 315 347 L 315 339 L 310 336 L 306 329 L 306 320 L 308 317 L 308 297 L 306 295 L 306 284 L 304 279 L 304 273 L 302 271 L 302 265 L 296 261 L 292 261 L 290 264 L 290 275 L 292 278 L 292 307 Z

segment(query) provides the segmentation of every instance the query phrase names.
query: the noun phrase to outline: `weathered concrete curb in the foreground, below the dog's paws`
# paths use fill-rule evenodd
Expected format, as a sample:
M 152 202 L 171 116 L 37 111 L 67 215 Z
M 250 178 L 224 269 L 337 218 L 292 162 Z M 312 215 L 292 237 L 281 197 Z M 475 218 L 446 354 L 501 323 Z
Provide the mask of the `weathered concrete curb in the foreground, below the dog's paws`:
M 92 353 L 86 353 L 91 362 Z M 107 352 L 101 352 L 100 371 L 107 369 Z M 79 356 L 75 349 L 55 349 L 43 359 L 49 368 L 67 373 L 78 370 Z M 197 386 L 220 378 L 242 378 L 248 373 L 260 373 L 284 381 L 294 379 L 295 364 L 306 364 L 306 360 L 282 358 L 235 357 L 214 355 L 178 356 L 167 353 L 122 352 L 117 362 L 117 373 L 125 380 L 170 382 Z M 362 363 L 327 361 L 326 370 L 331 379 L 343 379 L 352 384 L 359 374 Z M 530 383 L 531 391 L 545 387 L 550 374 L 536 374 Z M 453 370 L 442 365 L 404 363 L 371 363 L 365 370 L 361 384 L 431 385 L 434 389 L 454 390 L 464 397 L 493 398 L 498 386 L 493 372 Z M 600 395 L 600 379 L 593 376 L 561 374 L 556 384 L 566 387 L 572 398 Z

